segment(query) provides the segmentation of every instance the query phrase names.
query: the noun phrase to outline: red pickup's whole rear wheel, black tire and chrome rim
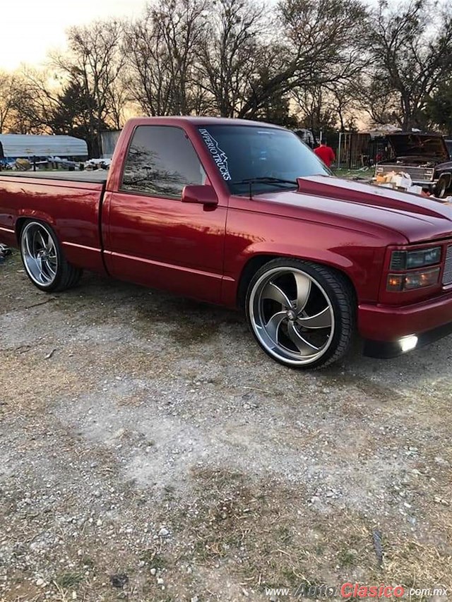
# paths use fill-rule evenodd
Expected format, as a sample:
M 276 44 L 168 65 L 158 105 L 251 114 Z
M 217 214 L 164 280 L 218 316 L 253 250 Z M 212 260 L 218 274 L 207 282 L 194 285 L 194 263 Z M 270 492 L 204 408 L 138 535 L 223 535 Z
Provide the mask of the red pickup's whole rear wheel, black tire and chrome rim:
M 28 219 L 20 231 L 23 267 L 41 291 L 64 291 L 75 286 L 82 271 L 66 261 L 57 235 L 44 222 Z

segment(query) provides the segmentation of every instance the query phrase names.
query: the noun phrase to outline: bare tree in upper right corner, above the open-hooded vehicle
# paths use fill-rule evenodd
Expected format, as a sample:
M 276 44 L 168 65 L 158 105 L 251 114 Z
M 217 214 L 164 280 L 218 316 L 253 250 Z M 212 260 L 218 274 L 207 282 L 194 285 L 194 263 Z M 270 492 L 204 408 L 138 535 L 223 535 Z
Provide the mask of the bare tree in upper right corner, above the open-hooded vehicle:
M 426 27 L 429 23 L 429 27 Z M 452 66 L 452 11 L 434 0 L 381 0 L 366 36 L 371 56 L 364 107 L 377 123 L 424 127 L 429 98 Z

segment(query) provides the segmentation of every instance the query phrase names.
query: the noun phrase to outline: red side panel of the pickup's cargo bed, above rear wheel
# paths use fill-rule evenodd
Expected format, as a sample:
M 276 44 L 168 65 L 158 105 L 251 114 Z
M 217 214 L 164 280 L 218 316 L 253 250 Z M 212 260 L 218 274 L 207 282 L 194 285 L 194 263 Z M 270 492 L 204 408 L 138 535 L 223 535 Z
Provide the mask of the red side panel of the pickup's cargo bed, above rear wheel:
M 70 263 L 103 272 L 104 190 L 105 181 L 0 174 L 0 241 L 18 246 L 16 229 L 23 220 L 40 219 L 52 226 Z

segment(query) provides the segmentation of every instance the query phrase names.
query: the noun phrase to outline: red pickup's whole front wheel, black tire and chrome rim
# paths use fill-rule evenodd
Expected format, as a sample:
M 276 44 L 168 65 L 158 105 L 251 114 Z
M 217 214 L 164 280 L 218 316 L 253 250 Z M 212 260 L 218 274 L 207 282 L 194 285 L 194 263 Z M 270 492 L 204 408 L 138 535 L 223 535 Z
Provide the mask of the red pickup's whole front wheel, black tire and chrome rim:
M 246 318 L 258 344 L 292 368 L 337 361 L 355 330 L 355 294 L 348 280 L 323 265 L 272 260 L 251 279 Z

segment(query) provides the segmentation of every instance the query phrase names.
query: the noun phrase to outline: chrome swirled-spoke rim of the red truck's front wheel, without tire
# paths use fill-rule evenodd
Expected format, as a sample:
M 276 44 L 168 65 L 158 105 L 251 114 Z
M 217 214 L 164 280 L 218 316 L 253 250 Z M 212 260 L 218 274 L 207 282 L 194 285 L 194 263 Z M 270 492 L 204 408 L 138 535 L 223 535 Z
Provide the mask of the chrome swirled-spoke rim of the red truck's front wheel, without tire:
M 249 318 L 268 354 L 294 366 L 318 362 L 335 332 L 326 291 L 295 267 L 275 267 L 258 278 L 249 296 Z

